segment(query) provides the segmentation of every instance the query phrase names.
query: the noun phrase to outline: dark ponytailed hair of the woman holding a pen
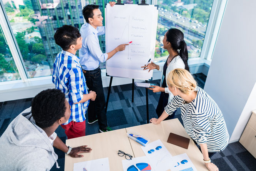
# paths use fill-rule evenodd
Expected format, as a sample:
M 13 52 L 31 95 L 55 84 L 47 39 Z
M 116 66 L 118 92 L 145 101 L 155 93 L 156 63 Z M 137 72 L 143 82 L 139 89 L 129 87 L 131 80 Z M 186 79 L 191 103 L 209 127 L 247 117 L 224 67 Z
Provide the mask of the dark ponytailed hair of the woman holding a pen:
M 185 64 L 185 70 L 190 71 L 188 67 L 188 49 L 184 41 L 184 34 L 177 28 L 170 28 L 166 33 L 166 40 L 171 43 L 173 49 L 180 49 L 180 57 Z

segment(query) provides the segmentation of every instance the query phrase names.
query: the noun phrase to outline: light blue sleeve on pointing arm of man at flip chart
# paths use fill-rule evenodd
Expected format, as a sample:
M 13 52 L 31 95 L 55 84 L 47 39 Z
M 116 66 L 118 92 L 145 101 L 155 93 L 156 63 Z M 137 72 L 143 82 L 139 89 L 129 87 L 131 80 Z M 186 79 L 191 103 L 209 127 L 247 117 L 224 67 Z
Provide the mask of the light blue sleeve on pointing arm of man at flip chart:
M 95 38 L 95 36 L 89 35 L 86 39 L 86 45 L 88 46 L 91 55 L 99 62 L 105 62 L 108 58 L 108 54 L 102 53 L 100 49 L 100 44 L 98 40 Z

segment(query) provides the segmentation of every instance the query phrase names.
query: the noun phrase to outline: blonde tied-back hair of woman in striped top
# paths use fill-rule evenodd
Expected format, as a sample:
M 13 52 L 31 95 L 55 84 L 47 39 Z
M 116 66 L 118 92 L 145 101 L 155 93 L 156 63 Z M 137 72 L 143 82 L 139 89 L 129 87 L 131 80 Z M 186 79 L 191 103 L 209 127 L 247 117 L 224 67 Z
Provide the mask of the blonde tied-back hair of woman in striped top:
M 196 80 L 194 80 L 191 73 L 181 68 L 174 69 L 168 73 L 166 83 L 169 87 L 175 86 L 186 95 L 196 88 Z

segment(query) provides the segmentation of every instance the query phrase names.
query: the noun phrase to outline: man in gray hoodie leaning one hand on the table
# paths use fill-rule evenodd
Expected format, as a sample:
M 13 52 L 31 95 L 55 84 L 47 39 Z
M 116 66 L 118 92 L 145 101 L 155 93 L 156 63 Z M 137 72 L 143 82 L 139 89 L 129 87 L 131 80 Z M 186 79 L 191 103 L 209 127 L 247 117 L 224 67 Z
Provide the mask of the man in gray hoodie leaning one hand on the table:
M 54 132 L 70 117 L 70 105 L 61 90 L 40 92 L 30 108 L 18 115 L 0 137 L 0 170 L 45 171 L 50 170 L 58 156 L 53 147 L 71 157 L 91 148 L 66 146 Z

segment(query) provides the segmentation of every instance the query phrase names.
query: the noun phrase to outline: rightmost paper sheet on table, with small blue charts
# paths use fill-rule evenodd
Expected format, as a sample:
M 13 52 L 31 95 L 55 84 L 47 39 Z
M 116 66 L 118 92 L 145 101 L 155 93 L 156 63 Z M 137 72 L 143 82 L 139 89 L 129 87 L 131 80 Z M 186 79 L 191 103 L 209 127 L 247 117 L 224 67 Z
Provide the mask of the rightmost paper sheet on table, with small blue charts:
M 171 167 L 171 171 L 197 171 L 186 153 L 173 156 L 173 161 L 175 165 Z

